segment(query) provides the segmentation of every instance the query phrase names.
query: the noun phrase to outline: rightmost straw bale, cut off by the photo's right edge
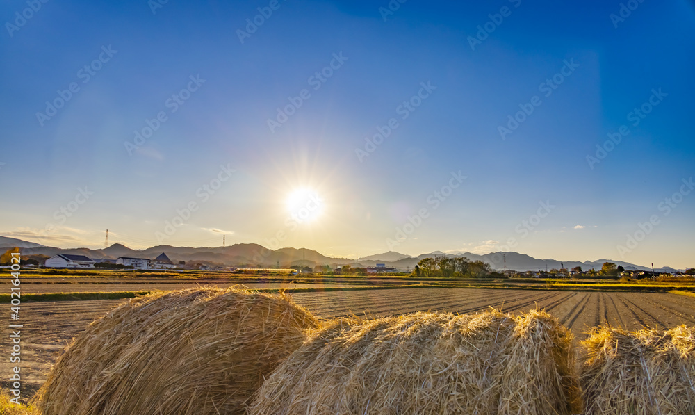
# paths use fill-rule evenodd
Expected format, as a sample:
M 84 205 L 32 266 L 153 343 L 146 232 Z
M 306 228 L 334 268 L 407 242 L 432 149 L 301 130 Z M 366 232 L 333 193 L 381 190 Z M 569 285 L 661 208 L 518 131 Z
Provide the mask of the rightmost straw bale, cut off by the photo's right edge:
M 695 327 L 597 327 L 582 344 L 586 415 L 695 414 Z

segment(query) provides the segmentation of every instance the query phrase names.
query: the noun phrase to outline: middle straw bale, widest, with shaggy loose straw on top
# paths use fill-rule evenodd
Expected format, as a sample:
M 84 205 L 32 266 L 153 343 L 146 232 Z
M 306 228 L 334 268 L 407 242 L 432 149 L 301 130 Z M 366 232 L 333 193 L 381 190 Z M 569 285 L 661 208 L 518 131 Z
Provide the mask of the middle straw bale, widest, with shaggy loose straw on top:
M 572 414 L 569 331 L 543 311 L 335 320 L 268 377 L 250 414 Z

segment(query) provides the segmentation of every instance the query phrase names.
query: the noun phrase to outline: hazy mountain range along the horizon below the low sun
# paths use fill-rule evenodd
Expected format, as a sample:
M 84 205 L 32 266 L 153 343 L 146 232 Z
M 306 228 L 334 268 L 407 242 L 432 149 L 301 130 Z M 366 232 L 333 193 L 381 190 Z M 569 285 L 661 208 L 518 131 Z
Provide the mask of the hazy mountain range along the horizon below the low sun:
M 16 238 L 0 236 L 0 250 L 10 247 L 22 248 L 22 254 L 42 254 L 49 257 L 55 254 L 79 254 L 92 259 L 117 259 L 118 257 L 135 258 L 155 258 L 162 252 L 167 254 L 174 263 L 178 261 L 204 261 L 208 263 L 218 263 L 226 266 L 256 266 L 261 264 L 264 267 L 275 266 L 287 267 L 292 265 L 345 265 L 351 266 L 375 266 L 377 263 L 384 263 L 386 266 L 398 268 L 399 270 L 412 270 L 418 261 L 427 257 L 446 256 L 446 257 L 466 257 L 471 261 L 484 261 L 491 264 L 496 270 L 550 270 L 552 268 L 573 268 L 582 267 L 582 270 L 601 268 L 604 262 L 613 262 L 623 266 L 626 270 L 650 270 L 648 266 L 639 266 L 625 261 L 614 259 L 597 259 L 596 261 L 559 261 L 556 259 L 538 259 L 518 252 L 491 252 L 489 254 L 472 254 L 471 252 L 459 252 L 456 254 L 445 254 L 441 251 L 434 251 L 427 254 L 420 254 L 417 257 L 401 254 L 400 252 L 384 252 L 367 257 L 361 257 L 356 261 L 349 258 L 327 257 L 315 250 L 304 248 L 286 247 L 279 250 L 268 250 L 267 248 L 255 243 L 238 243 L 227 247 L 173 247 L 170 245 L 157 245 L 146 250 L 133 250 L 129 247 L 115 243 L 103 250 L 91 250 L 89 248 L 63 249 L 59 247 L 47 247 L 38 243 L 22 241 Z M 670 267 L 657 268 L 660 272 L 676 272 Z

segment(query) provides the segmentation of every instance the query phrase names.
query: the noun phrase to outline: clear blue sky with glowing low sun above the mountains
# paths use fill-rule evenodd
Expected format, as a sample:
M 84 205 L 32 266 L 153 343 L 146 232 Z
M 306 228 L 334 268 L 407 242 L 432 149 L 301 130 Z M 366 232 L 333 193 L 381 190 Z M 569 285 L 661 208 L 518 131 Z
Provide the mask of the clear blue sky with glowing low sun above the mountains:
M 0 235 L 695 266 L 695 3 L 470 3 L 2 1 Z

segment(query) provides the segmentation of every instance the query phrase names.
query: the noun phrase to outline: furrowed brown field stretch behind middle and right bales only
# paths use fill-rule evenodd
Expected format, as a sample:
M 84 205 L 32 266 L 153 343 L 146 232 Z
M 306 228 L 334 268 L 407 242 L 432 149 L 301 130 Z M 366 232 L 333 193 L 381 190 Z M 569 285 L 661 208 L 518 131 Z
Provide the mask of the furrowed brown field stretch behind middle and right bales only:
M 423 288 L 296 293 L 293 298 L 320 317 L 377 317 L 428 310 L 463 314 L 487 307 L 528 311 L 538 304 L 580 338 L 585 329 L 603 322 L 629 330 L 695 325 L 695 302 L 670 293 Z

